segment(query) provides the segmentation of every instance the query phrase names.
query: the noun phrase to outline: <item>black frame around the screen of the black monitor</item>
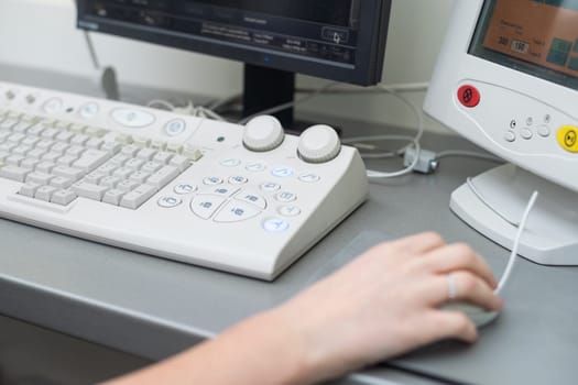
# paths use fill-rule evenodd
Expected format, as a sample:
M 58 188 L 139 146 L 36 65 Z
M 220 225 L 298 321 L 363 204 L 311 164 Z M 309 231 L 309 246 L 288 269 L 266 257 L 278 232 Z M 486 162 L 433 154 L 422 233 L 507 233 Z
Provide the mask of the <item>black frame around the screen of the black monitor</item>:
M 86 14 L 86 0 L 77 0 L 77 26 L 153 44 L 166 45 L 269 68 L 310 75 L 362 86 L 381 81 L 391 0 L 363 0 L 360 9 L 359 52 L 349 67 L 314 62 L 297 55 L 235 45 L 185 33 L 163 31 L 132 23 L 96 19 Z

